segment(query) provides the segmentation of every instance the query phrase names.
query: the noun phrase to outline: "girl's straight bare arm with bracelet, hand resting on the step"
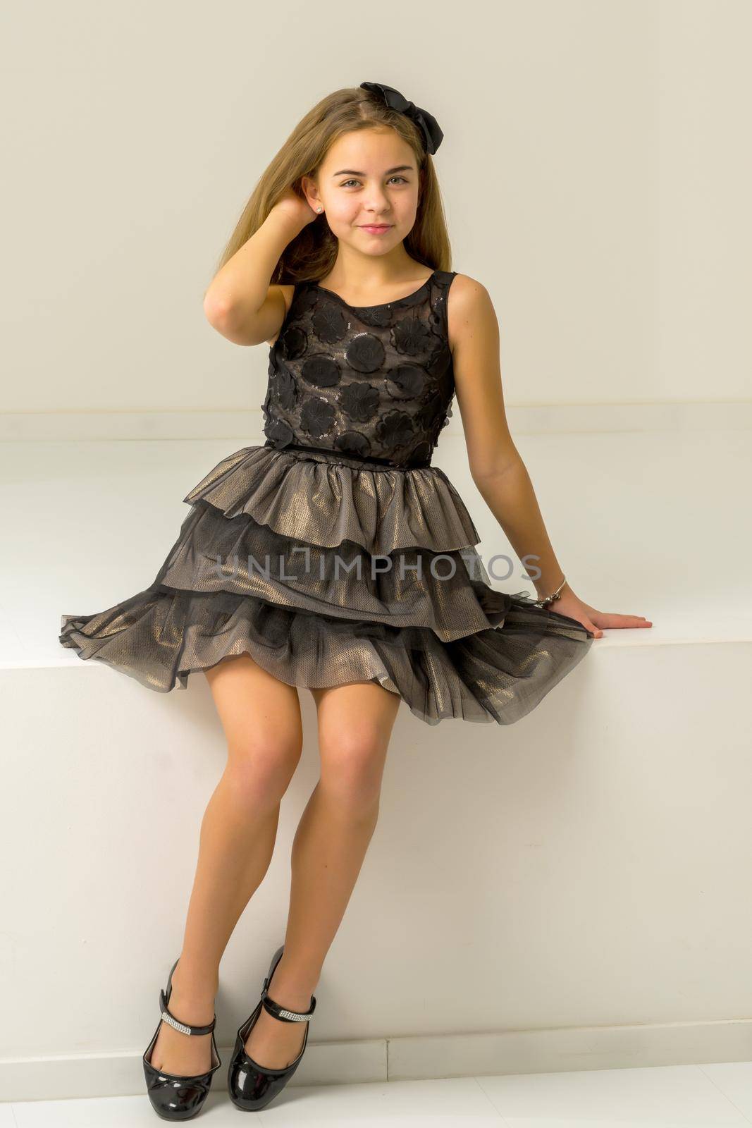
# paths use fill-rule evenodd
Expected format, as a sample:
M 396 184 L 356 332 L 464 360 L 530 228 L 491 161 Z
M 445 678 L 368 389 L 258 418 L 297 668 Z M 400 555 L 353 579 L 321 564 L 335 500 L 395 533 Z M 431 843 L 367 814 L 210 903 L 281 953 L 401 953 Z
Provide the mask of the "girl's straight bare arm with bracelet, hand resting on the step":
M 556 558 L 538 499 L 506 422 L 496 311 L 486 288 L 458 274 L 449 291 L 449 342 L 472 481 L 521 561 L 534 562 L 539 598 L 557 590 L 564 570 Z M 528 566 L 525 564 L 525 566 Z M 599 611 L 567 582 L 552 611 L 577 619 L 596 638 L 610 627 L 651 627 L 642 615 Z

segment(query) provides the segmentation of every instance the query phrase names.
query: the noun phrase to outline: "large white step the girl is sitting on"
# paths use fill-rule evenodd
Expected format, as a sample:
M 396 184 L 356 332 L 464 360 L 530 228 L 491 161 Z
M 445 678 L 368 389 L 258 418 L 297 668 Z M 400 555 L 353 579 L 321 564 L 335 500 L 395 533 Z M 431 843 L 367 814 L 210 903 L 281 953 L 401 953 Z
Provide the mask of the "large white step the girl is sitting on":
M 148 587 L 183 496 L 260 442 L 0 448 L 0 1099 L 141 1092 L 224 742 L 203 676 L 150 691 L 61 647 L 60 617 Z M 607 631 L 514 725 L 430 726 L 400 707 L 293 1083 L 751 1056 L 750 432 L 515 442 L 574 590 L 654 625 Z M 446 429 L 434 465 L 484 561 L 508 553 L 461 432 Z M 532 591 L 519 564 L 497 585 Z M 284 936 L 290 845 L 318 778 L 300 696 L 302 763 L 222 963 L 221 1051 Z

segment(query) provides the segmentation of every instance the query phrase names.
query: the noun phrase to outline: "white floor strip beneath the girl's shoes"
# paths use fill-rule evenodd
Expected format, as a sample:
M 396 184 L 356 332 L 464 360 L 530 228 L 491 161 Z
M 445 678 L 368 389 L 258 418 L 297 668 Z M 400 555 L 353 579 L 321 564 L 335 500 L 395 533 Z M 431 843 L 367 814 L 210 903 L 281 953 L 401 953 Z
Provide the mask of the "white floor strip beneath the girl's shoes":
M 216 1084 L 219 1082 L 219 1084 Z M 223 1070 L 196 1121 L 240 1123 Z M 203 1117 L 203 1120 L 201 1118 Z M 0 1104 L 0 1128 L 140 1128 L 145 1095 Z M 257 1125 L 371 1128 L 726 1128 L 752 1125 L 752 1061 L 448 1077 L 365 1085 L 289 1085 Z

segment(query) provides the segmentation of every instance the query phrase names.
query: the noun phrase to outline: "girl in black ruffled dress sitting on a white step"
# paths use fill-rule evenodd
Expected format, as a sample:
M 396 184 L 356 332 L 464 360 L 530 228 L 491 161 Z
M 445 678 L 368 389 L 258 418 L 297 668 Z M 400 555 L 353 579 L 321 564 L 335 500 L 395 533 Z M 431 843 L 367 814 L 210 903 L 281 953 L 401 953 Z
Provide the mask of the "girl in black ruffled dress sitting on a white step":
M 204 298 L 228 340 L 271 345 L 266 441 L 187 494 L 149 588 L 62 617 L 63 646 L 151 689 L 185 688 L 201 670 L 227 735 L 183 948 L 143 1055 L 167 1119 L 195 1114 L 221 1065 L 219 966 L 301 755 L 297 687 L 316 702 L 321 772 L 293 844 L 284 944 L 230 1061 L 246 1110 L 268 1104 L 302 1058 L 400 700 L 427 724 L 511 724 L 604 627 L 651 626 L 584 602 L 554 555 L 506 425 L 494 307 L 449 268 L 432 159 L 442 135 L 378 82 L 335 91 L 295 127 Z M 538 600 L 490 587 L 470 514 L 431 465 L 454 393 L 472 479 L 533 562 Z

